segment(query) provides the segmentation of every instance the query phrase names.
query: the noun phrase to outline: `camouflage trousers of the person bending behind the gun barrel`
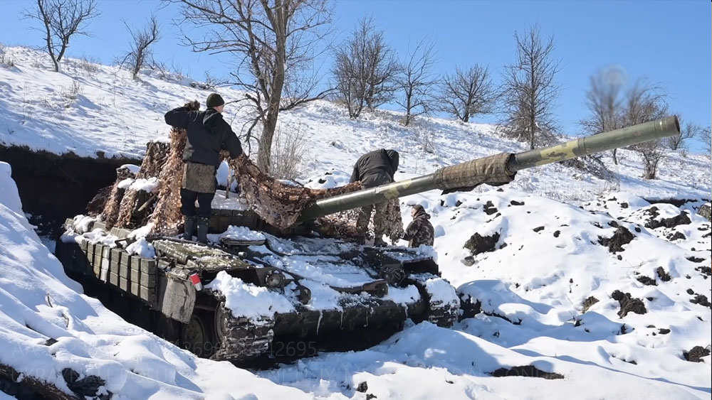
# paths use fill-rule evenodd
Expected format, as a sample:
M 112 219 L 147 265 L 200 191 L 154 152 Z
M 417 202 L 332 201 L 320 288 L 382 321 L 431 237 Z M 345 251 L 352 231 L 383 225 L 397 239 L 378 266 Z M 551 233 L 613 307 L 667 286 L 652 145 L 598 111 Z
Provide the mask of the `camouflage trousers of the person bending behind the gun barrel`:
M 377 205 L 367 205 L 361 207 L 356 220 L 356 230 L 360 238 L 369 237 L 368 222 L 373 215 L 373 236 L 377 240 L 382 240 L 383 235 L 387 235 L 392 242 L 397 242 L 403 232 L 403 222 L 400 215 L 400 205 L 398 199 L 387 202 L 379 202 Z

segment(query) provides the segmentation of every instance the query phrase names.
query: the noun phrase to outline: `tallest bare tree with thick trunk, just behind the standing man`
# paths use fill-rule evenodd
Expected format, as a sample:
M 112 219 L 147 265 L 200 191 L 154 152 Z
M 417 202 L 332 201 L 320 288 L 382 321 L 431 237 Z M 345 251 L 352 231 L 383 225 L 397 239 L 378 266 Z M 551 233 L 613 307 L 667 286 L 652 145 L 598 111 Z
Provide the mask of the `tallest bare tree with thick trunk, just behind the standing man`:
M 236 60 L 231 77 L 246 92 L 241 99 L 254 116 L 246 141 L 261 123 L 257 165 L 271 166 L 271 147 L 281 111 L 323 98 L 318 75 L 305 74 L 331 21 L 328 0 L 164 0 L 178 4 L 177 21 L 201 28 L 202 37 L 182 31 L 196 52 L 226 53 Z

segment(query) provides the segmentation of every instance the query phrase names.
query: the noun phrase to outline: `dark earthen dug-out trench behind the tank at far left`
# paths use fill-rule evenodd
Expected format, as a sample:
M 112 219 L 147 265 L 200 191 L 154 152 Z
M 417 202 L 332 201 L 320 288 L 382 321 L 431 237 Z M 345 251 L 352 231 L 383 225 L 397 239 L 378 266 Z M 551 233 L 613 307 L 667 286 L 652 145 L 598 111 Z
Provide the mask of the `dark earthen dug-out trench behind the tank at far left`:
M 58 156 L 19 146 L 0 146 L 0 161 L 12 167 L 28 220 L 38 234 L 52 239 L 61 234 L 66 218 L 85 213 L 98 190 L 114 183 L 116 168 L 141 163 L 137 158 Z

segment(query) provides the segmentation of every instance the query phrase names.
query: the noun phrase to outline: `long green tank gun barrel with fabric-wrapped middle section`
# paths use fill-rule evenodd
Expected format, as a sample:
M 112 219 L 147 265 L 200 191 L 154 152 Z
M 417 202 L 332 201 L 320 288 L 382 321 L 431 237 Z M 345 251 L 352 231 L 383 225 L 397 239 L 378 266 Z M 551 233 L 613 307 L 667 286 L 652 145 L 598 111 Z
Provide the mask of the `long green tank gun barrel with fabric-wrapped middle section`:
M 312 220 L 335 212 L 352 210 L 428 190 L 469 190 L 481 183 L 503 185 L 511 182 L 517 171 L 526 168 L 543 166 L 548 163 L 570 160 L 679 134 L 680 124 L 677 117 L 673 116 L 601 134 L 585 136 L 545 148 L 535 148 L 522 153 L 501 153 L 495 156 L 478 158 L 455 166 L 440 168 L 429 175 L 317 200 L 305 208 L 299 217 L 299 221 Z

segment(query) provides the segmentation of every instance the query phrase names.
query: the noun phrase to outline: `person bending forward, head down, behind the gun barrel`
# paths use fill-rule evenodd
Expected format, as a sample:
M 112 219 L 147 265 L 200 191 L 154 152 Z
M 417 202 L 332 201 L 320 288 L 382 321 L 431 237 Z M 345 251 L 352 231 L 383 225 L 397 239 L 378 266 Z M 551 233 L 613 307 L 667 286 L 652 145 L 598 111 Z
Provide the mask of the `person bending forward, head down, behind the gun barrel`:
M 349 182 L 361 181 L 362 188 L 375 188 L 376 186 L 384 185 L 393 182 L 393 175 L 398 169 L 398 152 L 395 150 L 380 150 L 371 151 L 361 156 L 354 165 L 354 171 L 351 174 Z M 383 234 L 385 232 L 385 220 L 387 216 L 387 202 L 382 202 L 377 205 L 367 205 L 362 207 L 358 219 L 356 220 L 356 229 L 361 235 L 361 240 L 365 240 L 368 232 L 368 222 L 371 219 L 371 212 L 376 209 L 373 216 L 373 233 L 375 236 L 375 246 L 385 246 Z

